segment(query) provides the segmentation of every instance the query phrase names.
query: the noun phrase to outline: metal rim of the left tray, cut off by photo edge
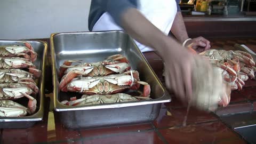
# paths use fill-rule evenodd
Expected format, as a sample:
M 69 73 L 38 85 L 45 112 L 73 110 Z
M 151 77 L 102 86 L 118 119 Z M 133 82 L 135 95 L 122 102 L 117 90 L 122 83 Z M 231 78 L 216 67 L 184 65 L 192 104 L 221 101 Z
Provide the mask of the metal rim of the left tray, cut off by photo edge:
M 1 41 L 13 41 L 13 42 L 25 42 L 26 40 L 9 40 L 9 39 L 0 39 Z M 41 95 L 40 98 L 40 106 L 37 111 L 37 113 L 30 115 L 30 116 L 25 116 L 25 117 L 0 117 L 0 122 L 26 122 L 26 121 L 42 121 L 43 116 L 44 116 L 44 69 L 46 65 L 46 54 L 47 54 L 47 43 L 44 41 L 39 41 L 39 40 L 27 40 L 26 42 L 38 42 L 42 43 L 44 45 L 44 53 L 43 53 L 43 66 L 42 66 L 42 77 L 41 77 L 41 86 L 40 86 L 40 92 L 39 94 Z

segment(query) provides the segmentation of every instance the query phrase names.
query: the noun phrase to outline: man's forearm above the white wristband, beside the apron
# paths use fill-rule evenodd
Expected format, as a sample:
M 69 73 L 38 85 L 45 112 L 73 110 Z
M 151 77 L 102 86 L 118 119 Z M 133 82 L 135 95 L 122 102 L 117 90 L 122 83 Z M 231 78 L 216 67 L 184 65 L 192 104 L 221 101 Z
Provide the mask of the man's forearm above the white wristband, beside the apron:
M 171 31 L 180 43 L 183 43 L 186 39 L 188 39 L 186 26 L 183 21 L 181 12 L 177 12 L 172 24 Z

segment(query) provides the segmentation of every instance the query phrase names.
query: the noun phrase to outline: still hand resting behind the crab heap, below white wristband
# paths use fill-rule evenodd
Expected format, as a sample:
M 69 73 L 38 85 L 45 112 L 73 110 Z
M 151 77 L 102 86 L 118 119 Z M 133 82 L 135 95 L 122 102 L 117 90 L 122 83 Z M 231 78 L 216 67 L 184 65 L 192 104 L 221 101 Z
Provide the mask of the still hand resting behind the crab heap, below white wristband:
M 201 53 L 211 48 L 210 42 L 202 36 L 189 40 L 185 46 L 192 47 L 197 53 Z

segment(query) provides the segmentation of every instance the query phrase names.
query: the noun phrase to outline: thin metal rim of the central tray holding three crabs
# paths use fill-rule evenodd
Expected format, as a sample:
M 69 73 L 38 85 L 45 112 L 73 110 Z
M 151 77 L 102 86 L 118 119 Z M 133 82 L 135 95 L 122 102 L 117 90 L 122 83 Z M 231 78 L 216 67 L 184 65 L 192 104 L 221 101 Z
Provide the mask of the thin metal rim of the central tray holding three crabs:
M 51 54 L 55 55 L 55 49 L 54 49 L 54 42 L 53 42 L 53 37 L 59 34 L 85 34 L 85 33 L 102 33 L 102 32 L 118 32 L 118 33 L 124 33 L 126 34 L 124 31 L 121 30 L 111 30 L 111 31 L 84 31 L 84 32 L 67 32 L 67 33 L 53 33 L 51 34 L 50 37 L 50 45 L 51 45 Z M 130 36 L 129 36 L 130 37 Z M 135 43 L 133 42 L 133 44 L 135 45 Z M 137 45 L 135 45 L 136 49 L 139 49 L 137 47 Z M 144 55 L 140 52 L 140 55 L 142 56 L 143 60 L 146 61 L 147 63 L 147 67 L 153 71 L 153 69 L 149 66 L 146 58 L 144 57 Z M 52 77 L 53 77 L 53 101 L 54 101 L 54 110 L 55 111 L 70 111 L 70 110 L 90 110 L 90 109 L 102 109 L 102 108 L 120 108 L 120 107 L 130 107 L 130 106 L 140 106 L 140 105 L 150 105 L 150 104 L 154 104 L 154 103 L 163 103 L 163 102 L 171 102 L 171 97 L 170 94 L 166 91 L 166 89 L 164 88 L 163 84 L 159 81 L 158 77 L 156 76 L 156 74 L 154 73 L 154 76 L 157 79 L 157 82 L 159 83 L 159 85 L 161 85 L 161 87 L 164 90 L 164 94 L 162 95 L 161 98 L 158 99 L 153 99 L 153 100 L 147 100 L 147 101 L 136 101 L 136 102 L 122 102 L 122 103 L 106 103 L 104 105 L 92 105 L 92 106 L 65 106 L 62 105 L 59 100 L 57 99 L 57 82 L 58 82 L 58 78 L 55 76 L 56 75 L 56 71 L 55 69 L 57 69 L 57 66 L 55 65 L 55 57 L 52 57 Z

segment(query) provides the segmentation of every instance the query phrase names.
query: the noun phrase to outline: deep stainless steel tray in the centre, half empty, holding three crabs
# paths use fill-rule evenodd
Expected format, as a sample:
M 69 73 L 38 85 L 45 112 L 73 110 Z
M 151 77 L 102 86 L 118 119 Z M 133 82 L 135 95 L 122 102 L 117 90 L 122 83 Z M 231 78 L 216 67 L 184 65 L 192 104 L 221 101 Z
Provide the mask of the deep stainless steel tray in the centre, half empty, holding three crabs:
M 54 109 L 59 111 L 61 123 L 68 129 L 88 129 L 117 125 L 148 123 L 159 114 L 163 102 L 171 97 L 148 65 L 138 47 L 123 31 L 84 33 L 58 33 L 51 35 Z M 74 97 L 74 93 L 59 90 L 59 66 L 68 59 L 97 62 L 113 54 L 123 54 L 138 70 L 141 81 L 151 86 L 152 100 L 109 103 L 93 106 L 65 106 L 61 100 Z

